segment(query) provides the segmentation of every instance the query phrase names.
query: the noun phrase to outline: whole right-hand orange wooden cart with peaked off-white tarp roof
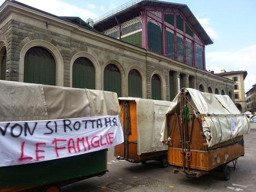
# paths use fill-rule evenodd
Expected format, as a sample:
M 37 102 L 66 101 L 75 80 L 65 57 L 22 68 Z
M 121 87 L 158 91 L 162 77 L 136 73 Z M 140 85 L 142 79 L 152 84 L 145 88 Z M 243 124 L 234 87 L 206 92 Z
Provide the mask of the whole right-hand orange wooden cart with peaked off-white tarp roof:
M 168 145 L 168 163 L 186 176 L 196 177 L 221 168 L 230 178 L 228 164 L 237 165 L 244 155 L 243 134 L 248 120 L 229 96 L 183 88 L 170 106 L 162 127 L 162 142 Z

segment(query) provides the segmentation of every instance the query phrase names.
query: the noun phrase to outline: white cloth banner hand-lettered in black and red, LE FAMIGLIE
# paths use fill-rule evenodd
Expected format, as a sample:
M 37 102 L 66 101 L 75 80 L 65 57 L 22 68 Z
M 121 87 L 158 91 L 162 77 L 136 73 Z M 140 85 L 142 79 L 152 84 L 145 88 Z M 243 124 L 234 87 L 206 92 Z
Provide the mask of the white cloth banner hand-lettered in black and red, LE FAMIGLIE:
M 38 163 L 123 142 L 119 116 L 0 122 L 0 166 Z

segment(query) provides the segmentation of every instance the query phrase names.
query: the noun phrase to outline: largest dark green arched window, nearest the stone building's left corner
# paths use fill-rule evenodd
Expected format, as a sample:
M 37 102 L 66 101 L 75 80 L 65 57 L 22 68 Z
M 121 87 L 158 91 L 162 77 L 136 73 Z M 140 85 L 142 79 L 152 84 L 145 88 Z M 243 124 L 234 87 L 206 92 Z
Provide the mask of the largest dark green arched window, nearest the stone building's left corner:
M 25 55 L 24 82 L 55 85 L 54 57 L 42 47 L 32 47 Z

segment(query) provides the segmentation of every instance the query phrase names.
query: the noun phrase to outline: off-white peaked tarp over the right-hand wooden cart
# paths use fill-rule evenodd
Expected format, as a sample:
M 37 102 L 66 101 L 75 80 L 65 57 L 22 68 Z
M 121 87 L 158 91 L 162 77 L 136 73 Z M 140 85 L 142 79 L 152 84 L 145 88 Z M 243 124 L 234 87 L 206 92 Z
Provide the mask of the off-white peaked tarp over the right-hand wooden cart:
M 209 147 L 224 141 L 233 139 L 236 136 L 249 134 L 249 121 L 242 115 L 228 95 L 215 95 L 205 93 L 193 88 L 186 88 L 191 96 L 191 105 L 195 110 L 204 116 L 202 131 L 206 137 Z M 177 106 L 178 96 L 173 100 L 167 114 L 174 115 Z M 161 130 L 161 141 L 167 140 L 166 119 Z

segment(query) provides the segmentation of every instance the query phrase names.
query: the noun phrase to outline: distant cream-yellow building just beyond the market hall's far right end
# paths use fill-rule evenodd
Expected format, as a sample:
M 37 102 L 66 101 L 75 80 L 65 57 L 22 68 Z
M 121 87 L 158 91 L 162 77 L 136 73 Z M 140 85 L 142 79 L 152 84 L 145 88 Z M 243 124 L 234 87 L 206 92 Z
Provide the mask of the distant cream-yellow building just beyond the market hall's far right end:
M 244 80 L 247 76 L 247 71 L 228 71 L 221 70 L 221 73 L 215 73 L 216 75 L 229 78 L 235 82 L 234 85 L 234 101 L 236 107 L 241 112 L 246 111 L 245 96 L 244 96 Z

